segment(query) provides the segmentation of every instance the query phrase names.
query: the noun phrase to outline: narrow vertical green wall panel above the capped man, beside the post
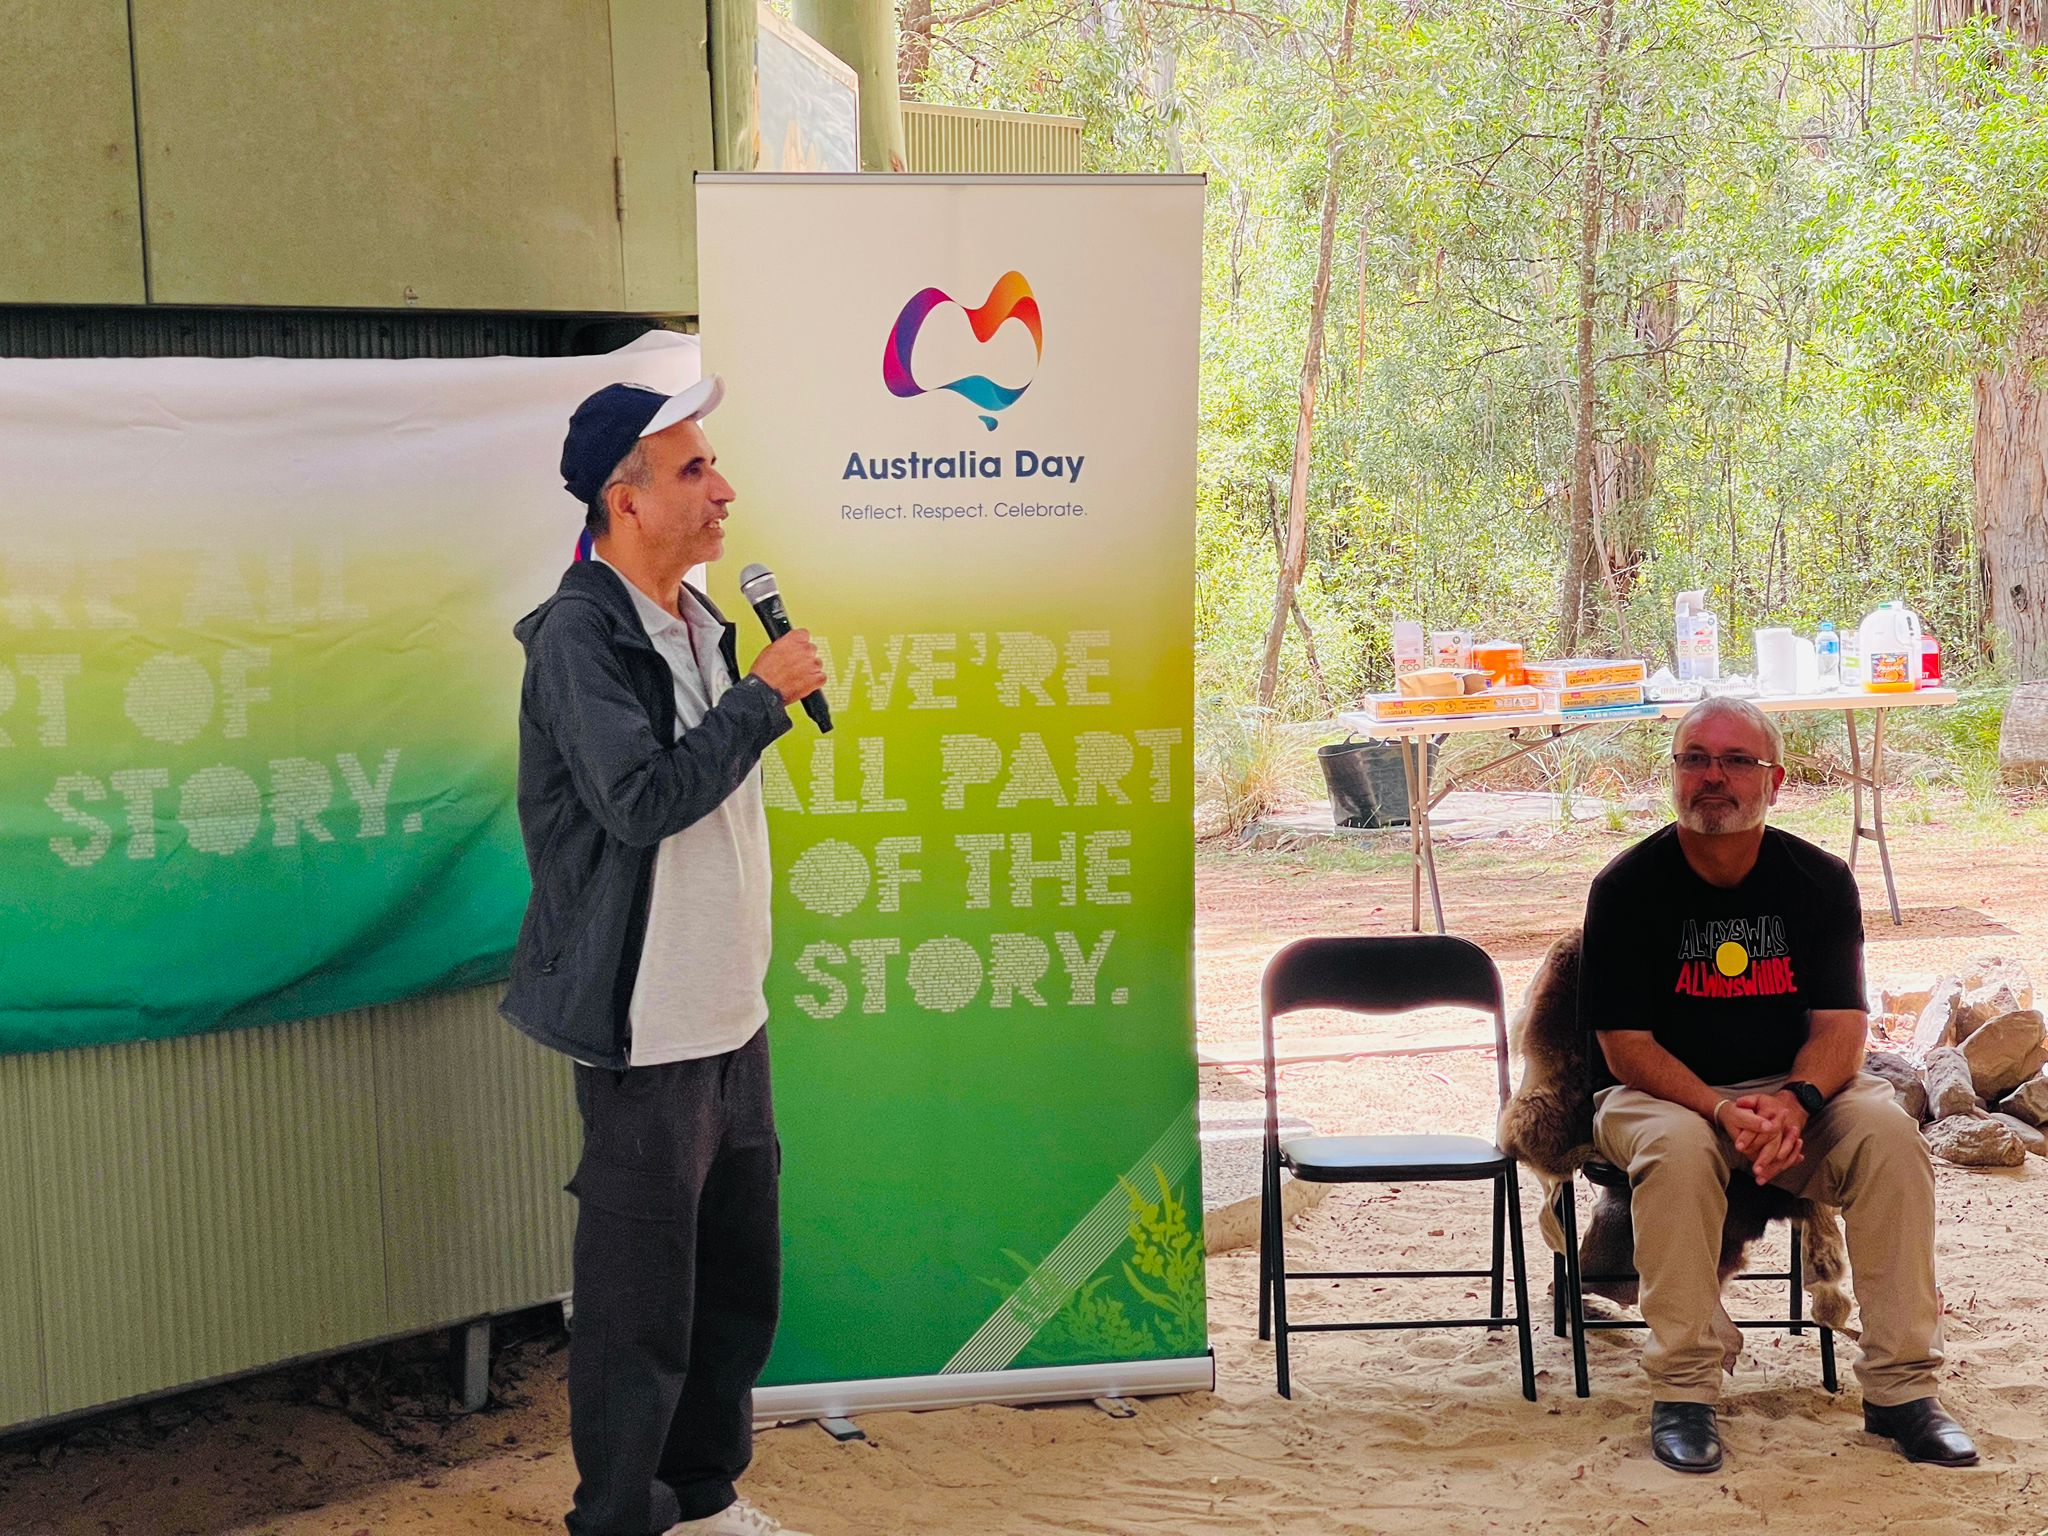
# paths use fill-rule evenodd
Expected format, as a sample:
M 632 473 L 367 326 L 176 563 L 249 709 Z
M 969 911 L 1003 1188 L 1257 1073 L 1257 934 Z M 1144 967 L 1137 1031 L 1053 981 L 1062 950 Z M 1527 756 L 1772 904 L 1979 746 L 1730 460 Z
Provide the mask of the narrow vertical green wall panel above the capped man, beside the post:
M 709 12 L 610 0 L 625 309 L 696 313 L 696 193 L 713 168 Z

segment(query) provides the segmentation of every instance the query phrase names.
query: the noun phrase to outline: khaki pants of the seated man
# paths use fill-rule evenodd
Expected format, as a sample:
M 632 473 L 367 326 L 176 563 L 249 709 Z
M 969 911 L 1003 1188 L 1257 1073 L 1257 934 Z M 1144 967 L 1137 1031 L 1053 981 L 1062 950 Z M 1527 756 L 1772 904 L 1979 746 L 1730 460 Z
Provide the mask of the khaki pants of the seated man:
M 1784 1077 L 1716 1090 L 1729 1098 L 1772 1092 Z M 1884 1079 L 1864 1073 L 1806 1126 L 1806 1157 L 1772 1184 L 1841 1206 L 1855 1272 L 1864 1348 L 1855 1362 L 1864 1401 L 1878 1407 L 1933 1397 L 1942 1368 L 1942 1300 L 1933 1284 L 1933 1165 L 1919 1126 Z M 1722 1339 L 1735 1335 L 1714 1268 L 1729 1178 L 1749 1159 L 1708 1120 L 1634 1087 L 1593 1102 L 1593 1145 L 1628 1169 L 1651 1346 L 1642 1370 L 1659 1403 L 1720 1397 Z

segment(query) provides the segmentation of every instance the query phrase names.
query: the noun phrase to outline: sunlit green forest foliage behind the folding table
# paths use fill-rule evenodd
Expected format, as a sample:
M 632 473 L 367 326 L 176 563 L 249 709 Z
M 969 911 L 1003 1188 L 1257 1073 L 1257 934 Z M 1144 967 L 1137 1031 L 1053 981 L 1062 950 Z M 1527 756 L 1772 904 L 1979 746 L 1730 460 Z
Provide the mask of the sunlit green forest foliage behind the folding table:
M 1280 719 L 1389 686 L 1395 618 L 1554 647 L 1581 317 L 1620 596 L 1585 649 L 1626 625 L 1665 662 L 1673 596 L 1708 588 L 1731 668 L 1759 625 L 1886 598 L 1952 674 L 1989 653 L 1968 379 L 2048 295 L 2040 53 L 1982 23 L 1913 41 L 1917 0 L 1614 0 L 1602 66 L 1593 4 L 1360 0 L 1335 78 L 1341 0 L 967 14 L 924 98 L 1075 113 L 1096 170 L 1208 176 L 1204 694 L 1251 694 L 1272 618 L 1331 123 L 1350 154 L 1298 592 L 1325 686 L 1290 627 Z M 1212 711 L 1227 821 L 1270 793 L 1274 741 Z

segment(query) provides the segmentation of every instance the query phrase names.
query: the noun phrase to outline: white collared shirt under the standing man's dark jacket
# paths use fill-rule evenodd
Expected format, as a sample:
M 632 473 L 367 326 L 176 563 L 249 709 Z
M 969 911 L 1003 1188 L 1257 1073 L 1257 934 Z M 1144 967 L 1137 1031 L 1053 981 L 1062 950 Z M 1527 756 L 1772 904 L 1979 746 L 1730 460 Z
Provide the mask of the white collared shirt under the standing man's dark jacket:
M 604 565 L 602 557 L 596 557 Z M 610 567 L 616 575 L 616 567 Z M 676 737 L 705 719 L 733 686 L 719 641 L 723 625 L 690 588 L 682 618 L 625 582 L 641 625 L 676 682 Z M 768 817 L 762 770 L 711 815 L 662 840 L 653 858 L 647 938 L 627 1020 L 627 1063 L 659 1067 L 737 1051 L 768 1022 Z

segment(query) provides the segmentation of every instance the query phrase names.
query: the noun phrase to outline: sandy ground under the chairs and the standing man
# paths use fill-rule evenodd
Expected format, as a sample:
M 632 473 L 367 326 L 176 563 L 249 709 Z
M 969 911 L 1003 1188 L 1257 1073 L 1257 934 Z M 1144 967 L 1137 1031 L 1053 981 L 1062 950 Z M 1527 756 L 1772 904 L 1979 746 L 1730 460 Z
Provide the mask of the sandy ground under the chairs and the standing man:
M 1831 823 L 1821 823 L 1839 846 Z M 1985 829 L 1939 817 L 1894 836 L 1903 928 L 1874 911 L 1874 975 L 2001 950 L 2048 979 L 2048 901 L 2032 819 Z M 1575 920 L 1585 874 L 1626 834 L 1530 834 L 1444 858 L 1452 928 L 1487 944 L 1511 989 Z M 1866 868 L 1866 903 L 1882 901 Z M 1386 860 L 1204 856 L 1200 1030 L 1257 1028 L 1266 954 L 1311 932 L 1391 932 L 1407 872 Z M 1300 1032 L 1358 1030 L 1307 1018 Z M 1204 1098 L 1251 1098 L 1249 1073 L 1206 1067 Z M 1325 1128 L 1479 1128 L 1485 1057 L 1442 1053 L 1307 1063 L 1290 1110 Z M 1645 1446 L 1636 1335 L 1595 1333 L 1593 1397 L 1540 1327 L 1540 1401 L 1524 1403 L 1507 1333 L 1348 1333 L 1294 1341 L 1292 1401 L 1274 1395 L 1253 1333 L 1249 1253 L 1210 1266 L 1217 1391 L 1153 1399 L 1130 1419 L 1094 1407 L 887 1413 L 864 1442 L 813 1425 L 760 1438 L 748 1491 L 817 1536 L 842 1532 L 2048 1532 L 2048 1161 L 1939 1167 L 1939 1264 L 1950 1305 L 1944 1399 L 1985 1466 L 1911 1466 L 1862 1434 L 1843 1341 L 1843 1393 L 1821 1389 L 1819 1346 L 1751 1333 L 1722 1399 L 1726 1466 L 1688 1479 Z M 1532 1247 L 1534 1204 L 1526 1196 Z M 1483 1262 L 1485 1194 L 1337 1192 L 1290 1235 L 1296 1266 L 1462 1268 Z M 1370 1260 L 1370 1262 L 1368 1262 Z M 1548 1321 L 1548 1260 L 1532 1307 Z M 1776 1290 L 1776 1288 L 1774 1288 Z M 1479 1309 L 1466 1282 L 1290 1292 L 1298 1321 Z M 1763 1296 L 1759 1300 L 1776 1300 Z M 1399 1309 L 1399 1311 L 1397 1311 Z M 1737 1309 L 1739 1311 L 1739 1309 Z M 563 1339 L 526 1319 L 500 1350 L 492 1407 L 453 1415 L 424 1346 L 350 1356 L 0 1448 L 0 1536 L 426 1536 L 559 1530 L 573 1485 Z

